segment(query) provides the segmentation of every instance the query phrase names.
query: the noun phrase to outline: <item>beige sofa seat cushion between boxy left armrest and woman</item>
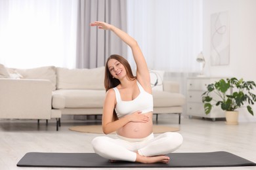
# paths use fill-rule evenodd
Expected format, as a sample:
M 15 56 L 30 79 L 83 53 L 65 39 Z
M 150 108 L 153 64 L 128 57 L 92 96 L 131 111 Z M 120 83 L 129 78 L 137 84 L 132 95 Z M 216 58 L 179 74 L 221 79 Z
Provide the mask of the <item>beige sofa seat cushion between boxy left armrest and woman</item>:
M 105 94 L 105 90 L 55 90 L 53 108 L 102 108 Z

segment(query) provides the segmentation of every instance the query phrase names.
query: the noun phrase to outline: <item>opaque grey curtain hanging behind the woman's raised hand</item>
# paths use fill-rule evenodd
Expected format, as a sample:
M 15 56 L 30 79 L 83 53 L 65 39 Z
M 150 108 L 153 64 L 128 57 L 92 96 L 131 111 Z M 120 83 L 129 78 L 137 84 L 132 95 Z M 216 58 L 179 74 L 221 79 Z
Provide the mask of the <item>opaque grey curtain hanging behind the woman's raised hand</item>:
M 76 67 L 101 67 L 111 54 L 127 58 L 127 45 L 114 33 L 89 26 L 98 20 L 127 31 L 126 0 L 79 0 L 78 8 Z

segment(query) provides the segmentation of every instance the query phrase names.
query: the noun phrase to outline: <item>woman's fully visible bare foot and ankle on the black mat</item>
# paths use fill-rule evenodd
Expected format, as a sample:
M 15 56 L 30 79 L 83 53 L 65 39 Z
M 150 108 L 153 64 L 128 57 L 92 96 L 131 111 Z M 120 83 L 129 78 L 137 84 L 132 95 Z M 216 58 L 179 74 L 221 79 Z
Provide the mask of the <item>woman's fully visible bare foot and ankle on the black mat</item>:
M 137 154 L 136 161 L 140 163 L 168 163 L 170 161 L 170 158 L 168 156 L 141 156 L 140 154 Z

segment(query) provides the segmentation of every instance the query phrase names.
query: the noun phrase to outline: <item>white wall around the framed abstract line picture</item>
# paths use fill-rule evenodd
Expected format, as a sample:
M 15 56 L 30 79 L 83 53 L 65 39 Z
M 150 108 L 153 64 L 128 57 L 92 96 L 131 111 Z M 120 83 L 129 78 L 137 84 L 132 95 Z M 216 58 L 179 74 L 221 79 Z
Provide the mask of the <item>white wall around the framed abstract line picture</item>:
M 205 75 L 236 76 L 256 82 L 256 1 L 255 0 L 204 0 L 203 1 L 203 54 Z M 228 11 L 230 18 L 230 62 L 229 65 L 212 66 L 211 14 Z M 255 90 L 256 92 L 256 90 Z M 256 122 L 255 116 L 245 109 L 240 110 L 240 122 Z

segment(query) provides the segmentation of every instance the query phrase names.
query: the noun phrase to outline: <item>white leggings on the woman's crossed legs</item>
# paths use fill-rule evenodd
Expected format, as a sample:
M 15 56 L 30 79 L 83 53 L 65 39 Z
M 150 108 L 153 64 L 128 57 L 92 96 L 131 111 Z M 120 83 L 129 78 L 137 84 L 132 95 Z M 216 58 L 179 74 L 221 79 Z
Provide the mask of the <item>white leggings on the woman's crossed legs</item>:
M 117 135 L 116 139 L 101 136 L 93 139 L 95 153 L 108 160 L 135 161 L 138 151 L 142 156 L 165 155 L 177 150 L 183 141 L 182 135 L 166 132 L 158 137 L 154 134 L 143 139 L 129 139 Z

